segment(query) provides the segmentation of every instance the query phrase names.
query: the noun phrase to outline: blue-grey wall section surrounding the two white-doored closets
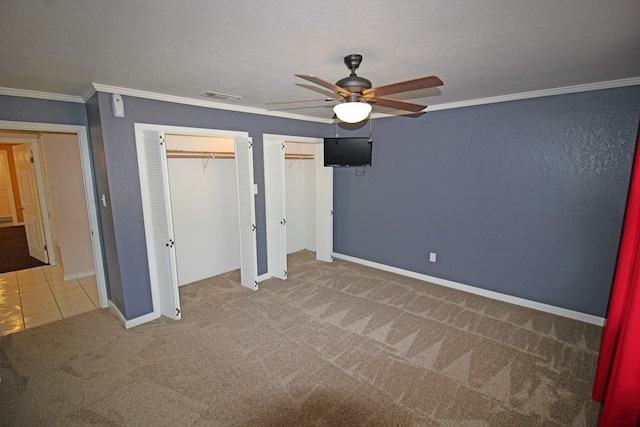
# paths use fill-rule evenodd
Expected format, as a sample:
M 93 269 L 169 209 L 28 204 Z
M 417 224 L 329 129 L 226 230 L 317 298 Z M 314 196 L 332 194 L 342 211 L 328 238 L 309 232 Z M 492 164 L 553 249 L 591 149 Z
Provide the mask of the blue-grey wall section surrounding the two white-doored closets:
M 328 134 L 331 126 L 315 122 L 281 119 L 233 111 L 174 104 L 123 96 L 124 118 L 111 114 L 111 95 L 98 93 L 96 104 L 89 103 L 91 129 L 99 128 L 92 144 L 94 160 L 102 158 L 104 166 L 96 166 L 97 194 L 105 194 L 108 208 L 100 208 L 105 234 L 105 258 L 118 260 L 119 272 L 108 270 L 112 299 L 127 319 L 153 311 L 146 241 L 142 215 L 142 199 L 138 178 L 138 161 L 134 123 L 196 127 L 248 132 L 254 143 L 254 180 L 256 196 L 258 274 L 267 272 L 266 218 L 264 201 L 264 167 L 262 134 L 284 134 L 317 137 Z M 95 111 L 94 111 L 95 110 Z M 97 123 L 97 121 L 100 123 Z M 114 275 L 119 274 L 118 278 Z

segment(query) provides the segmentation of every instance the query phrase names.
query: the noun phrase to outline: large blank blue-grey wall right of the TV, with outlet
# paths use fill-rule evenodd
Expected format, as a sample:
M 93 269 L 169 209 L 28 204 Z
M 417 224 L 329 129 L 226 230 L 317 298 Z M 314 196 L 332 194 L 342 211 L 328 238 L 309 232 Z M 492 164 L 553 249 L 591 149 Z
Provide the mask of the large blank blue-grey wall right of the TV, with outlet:
M 635 86 L 374 120 L 334 250 L 604 317 L 639 118 Z

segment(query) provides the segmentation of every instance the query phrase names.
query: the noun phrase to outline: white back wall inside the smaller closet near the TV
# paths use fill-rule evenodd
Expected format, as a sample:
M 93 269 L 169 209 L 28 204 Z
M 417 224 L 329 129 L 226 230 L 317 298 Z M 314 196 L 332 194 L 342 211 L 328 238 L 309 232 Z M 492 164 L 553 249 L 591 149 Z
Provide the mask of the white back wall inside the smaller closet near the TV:
M 285 142 L 285 154 L 313 154 L 315 145 Z M 316 182 L 313 160 L 285 160 L 287 253 L 316 250 Z

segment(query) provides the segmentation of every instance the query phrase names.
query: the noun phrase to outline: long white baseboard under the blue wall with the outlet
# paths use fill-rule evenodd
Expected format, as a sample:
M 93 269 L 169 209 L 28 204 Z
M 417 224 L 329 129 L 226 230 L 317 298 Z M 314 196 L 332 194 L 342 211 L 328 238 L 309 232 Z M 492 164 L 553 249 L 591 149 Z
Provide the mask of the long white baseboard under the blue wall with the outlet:
M 495 299 L 498 301 L 504 301 L 510 304 L 519 305 L 522 307 L 532 308 L 534 310 L 543 311 L 545 313 L 556 314 L 562 317 L 568 317 L 570 319 L 580 320 L 586 323 L 592 323 L 594 325 L 603 326 L 605 319 L 591 314 L 581 313 L 579 311 L 568 310 L 566 308 L 556 307 L 553 305 L 543 304 L 536 301 L 527 300 L 524 298 L 518 298 L 511 295 L 502 294 L 499 292 L 488 291 L 486 289 L 477 288 L 475 286 L 465 285 L 462 283 L 453 282 L 451 280 L 440 279 L 438 277 L 428 276 L 426 274 L 416 273 L 414 271 L 403 270 L 397 267 L 391 267 L 385 264 L 379 264 L 373 261 L 367 261 L 365 259 L 355 258 L 349 255 L 343 255 L 339 253 L 332 254 L 335 258 L 343 259 L 345 261 L 354 262 L 356 264 L 366 265 L 367 267 L 377 268 L 378 270 L 388 271 L 390 273 L 400 274 L 402 276 L 412 277 L 418 280 L 424 280 L 425 282 L 434 283 L 436 285 L 446 286 L 448 288 L 457 289 L 471 294 L 480 295 L 483 297 Z

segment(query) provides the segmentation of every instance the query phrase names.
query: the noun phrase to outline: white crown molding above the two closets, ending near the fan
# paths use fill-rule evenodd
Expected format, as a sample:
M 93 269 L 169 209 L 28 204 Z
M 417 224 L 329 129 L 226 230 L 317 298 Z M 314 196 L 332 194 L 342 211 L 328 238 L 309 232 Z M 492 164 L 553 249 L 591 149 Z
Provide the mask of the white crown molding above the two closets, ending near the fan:
M 172 102 L 174 104 L 193 105 L 196 107 L 213 108 L 217 110 L 229 110 L 240 113 L 259 114 L 262 116 L 280 117 L 284 119 L 304 120 L 306 122 L 333 123 L 333 120 L 323 119 L 319 117 L 309 117 L 299 114 L 283 113 L 280 111 L 269 111 L 263 108 L 245 107 L 241 105 L 229 105 L 215 101 L 207 101 L 204 99 L 183 98 L 181 96 L 165 95 L 155 92 L 147 92 L 137 89 L 128 89 L 123 87 L 108 86 L 100 83 L 93 83 L 93 87 L 98 92 L 117 93 L 120 95 L 134 96 L 136 98 L 153 99 L 156 101 Z

